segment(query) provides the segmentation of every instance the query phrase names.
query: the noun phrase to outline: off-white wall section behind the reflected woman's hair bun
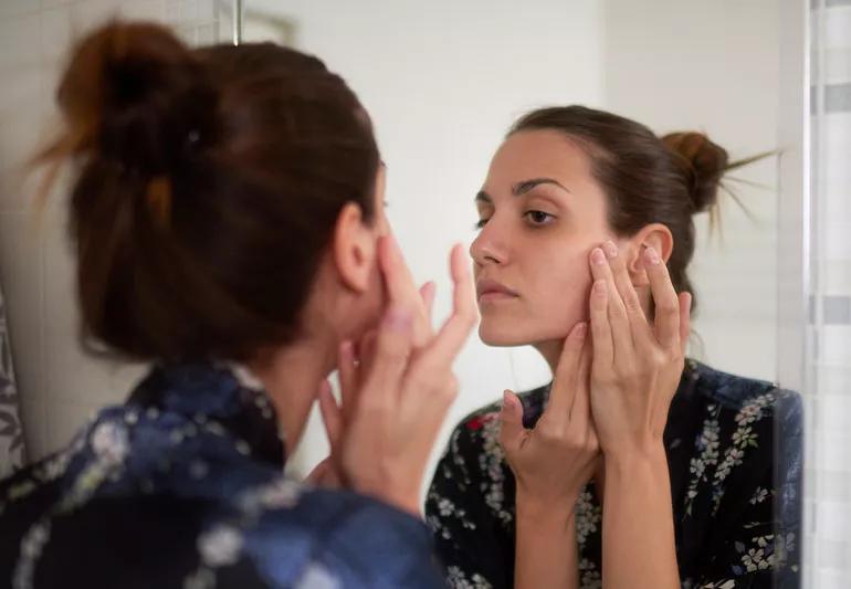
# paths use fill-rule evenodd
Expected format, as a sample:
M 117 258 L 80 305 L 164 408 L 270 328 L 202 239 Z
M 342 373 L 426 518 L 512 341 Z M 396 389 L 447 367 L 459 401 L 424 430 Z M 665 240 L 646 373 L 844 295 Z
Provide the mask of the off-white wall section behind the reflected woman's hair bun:
M 607 0 L 607 107 L 658 133 L 703 130 L 742 159 L 778 145 L 778 0 Z M 777 379 L 777 157 L 729 173 L 717 231 L 696 218 L 692 355 Z

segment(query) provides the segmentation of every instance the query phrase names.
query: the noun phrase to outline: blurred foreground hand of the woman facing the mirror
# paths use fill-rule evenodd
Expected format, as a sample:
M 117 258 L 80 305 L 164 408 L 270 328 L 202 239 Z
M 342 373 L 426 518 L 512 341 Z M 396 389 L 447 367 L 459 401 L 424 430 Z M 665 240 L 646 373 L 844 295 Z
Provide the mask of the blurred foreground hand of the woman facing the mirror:
M 356 361 L 353 346 L 342 346 L 344 410 L 332 454 L 346 486 L 419 515 L 426 465 L 458 393 L 452 365 L 476 313 L 470 270 L 455 246 L 450 256 L 452 315 L 438 334 L 423 338 L 420 312 L 408 299 L 420 294 L 398 261 L 390 252 L 381 263 L 390 298 L 369 357 Z M 333 413 L 324 396 L 323 413 Z

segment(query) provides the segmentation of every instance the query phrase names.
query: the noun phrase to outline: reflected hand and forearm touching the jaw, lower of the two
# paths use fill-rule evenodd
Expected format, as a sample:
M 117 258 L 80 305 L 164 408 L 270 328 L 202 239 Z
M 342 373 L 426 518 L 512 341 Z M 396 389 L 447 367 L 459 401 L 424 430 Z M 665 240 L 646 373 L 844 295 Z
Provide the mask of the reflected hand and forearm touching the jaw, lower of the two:
M 578 586 L 574 509 L 600 452 L 588 392 L 588 325 L 565 339 L 549 399 L 535 428 L 523 425 L 519 399 L 505 391 L 500 443 L 517 482 L 514 586 Z

